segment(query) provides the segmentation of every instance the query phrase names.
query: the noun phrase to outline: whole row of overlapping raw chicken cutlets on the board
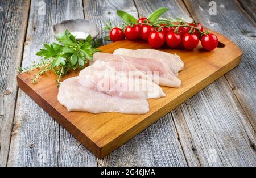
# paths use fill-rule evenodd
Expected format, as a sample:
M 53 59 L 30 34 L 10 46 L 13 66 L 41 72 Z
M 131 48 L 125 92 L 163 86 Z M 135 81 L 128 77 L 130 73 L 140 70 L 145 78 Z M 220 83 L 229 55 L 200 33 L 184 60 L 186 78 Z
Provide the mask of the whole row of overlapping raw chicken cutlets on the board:
M 181 86 L 183 68 L 179 56 L 157 50 L 95 53 L 79 76 L 61 82 L 57 98 L 68 111 L 141 115 L 149 111 L 147 99 L 166 96 L 158 84 Z

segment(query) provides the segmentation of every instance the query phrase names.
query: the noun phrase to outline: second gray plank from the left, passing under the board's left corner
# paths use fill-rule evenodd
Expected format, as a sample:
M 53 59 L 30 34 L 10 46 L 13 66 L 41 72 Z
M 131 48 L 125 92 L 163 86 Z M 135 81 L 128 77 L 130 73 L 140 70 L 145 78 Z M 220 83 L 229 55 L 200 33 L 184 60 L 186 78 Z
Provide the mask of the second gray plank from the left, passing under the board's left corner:
M 33 0 L 22 66 L 54 40 L 53 24 L 76 18 L 84 18 L 82 1 Z M 8 166 L 97 166 L 95 156 L 21 90 L 14 119 Z

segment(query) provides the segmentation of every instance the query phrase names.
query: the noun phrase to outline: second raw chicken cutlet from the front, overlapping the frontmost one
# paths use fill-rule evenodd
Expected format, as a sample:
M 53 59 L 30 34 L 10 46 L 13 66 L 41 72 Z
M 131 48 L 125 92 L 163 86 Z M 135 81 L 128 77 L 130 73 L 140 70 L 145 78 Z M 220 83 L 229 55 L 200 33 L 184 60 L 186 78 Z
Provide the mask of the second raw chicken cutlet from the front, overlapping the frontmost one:
M 98 86 L 109 95 L 117 93 L 123 96 L 143 92 L 146 98 L 158 99 L 166 96 L 162 88 L 152 82 L 151 78 L 127 62 L 96 61 L 81 70 L 79 76 L 100 80 Z M 105 88 L 102 87 L 104 82 L 108 84 Z

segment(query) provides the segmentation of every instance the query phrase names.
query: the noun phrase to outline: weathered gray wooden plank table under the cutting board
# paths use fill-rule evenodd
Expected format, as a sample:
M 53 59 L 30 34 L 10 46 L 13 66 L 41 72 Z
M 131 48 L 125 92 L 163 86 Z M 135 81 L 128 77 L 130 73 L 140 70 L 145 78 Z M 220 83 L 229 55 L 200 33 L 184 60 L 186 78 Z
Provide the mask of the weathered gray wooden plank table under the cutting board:
M 214 1 L 216 15 L 209 2 L 1 0 L 0 166 L 256 166 L 255 1 Z M 15 68 L 38 59 L 54 40 L 53 24 L 86 18 L 102 28 L 108 18 L 121 21 L 117 9 L 139 17 L 162 6 L 166 17 L 193 18 L 228 36 L 242 62 L 104 159 L 17 88 Z

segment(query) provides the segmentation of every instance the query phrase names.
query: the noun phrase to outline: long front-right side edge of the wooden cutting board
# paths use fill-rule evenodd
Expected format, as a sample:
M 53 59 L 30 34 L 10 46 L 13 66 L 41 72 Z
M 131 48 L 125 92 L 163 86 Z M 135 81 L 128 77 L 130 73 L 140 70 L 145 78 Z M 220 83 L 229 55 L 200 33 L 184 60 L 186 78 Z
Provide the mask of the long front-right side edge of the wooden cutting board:
M 172 111 L 173 109 L 178 107 L 180 104 L 184 103 L 186 100 L 188 100 L 189 98 L 191 98 L 192 96 L 194 96 L 195 94 L 203 90 L 209 84 L 213 83 L 215 80 L 222 77 L 224 74 L 228 73 L 230 70 L 234 69 L 234 67 L 238 66 L 239 63 L 241 62 L 241 58 L 242 58 L 242 52 L 240 53 L 240 56 L 235 58 L 233 61 L 231 61 L 227 65 L 221 67 L 221 69 L 217 70 L 210 77 L 205 78 L 200 83 L 197 83 L 194 87 L 190 88 L 186 94 L 182 94 L 178 98 L 173 100 L 172 103 L 177 103 L 177 104 L 172 105 L 172 103 L 169 103 L 165 105 L 164 107 L 160 108 L 158 112 L 152 113 L 152 115 L 149 116 L 147 119 L 142 120 L 137 125 L 134 125 L 132 128 L 127 130 L 125 133 L 122 133 L 117 138 L 110 141 L 108 144 L 106 144 L 100 149 L 99 158 L 102 159 L 106 155 L 108 155 L 110 152 L 114 151 L 115 149 L 118 149 L 118 147 L 122 146 L 131 138 L 135 137 L 135 135 L 141 133 L 144 129 L 146 129 L 148 126 L 150 126 L 154 122 L 158 121 L 161 117 L 166 115 L 168 112 Z M 158 113 L 162 113 L 162 114 L 158 114 Z

